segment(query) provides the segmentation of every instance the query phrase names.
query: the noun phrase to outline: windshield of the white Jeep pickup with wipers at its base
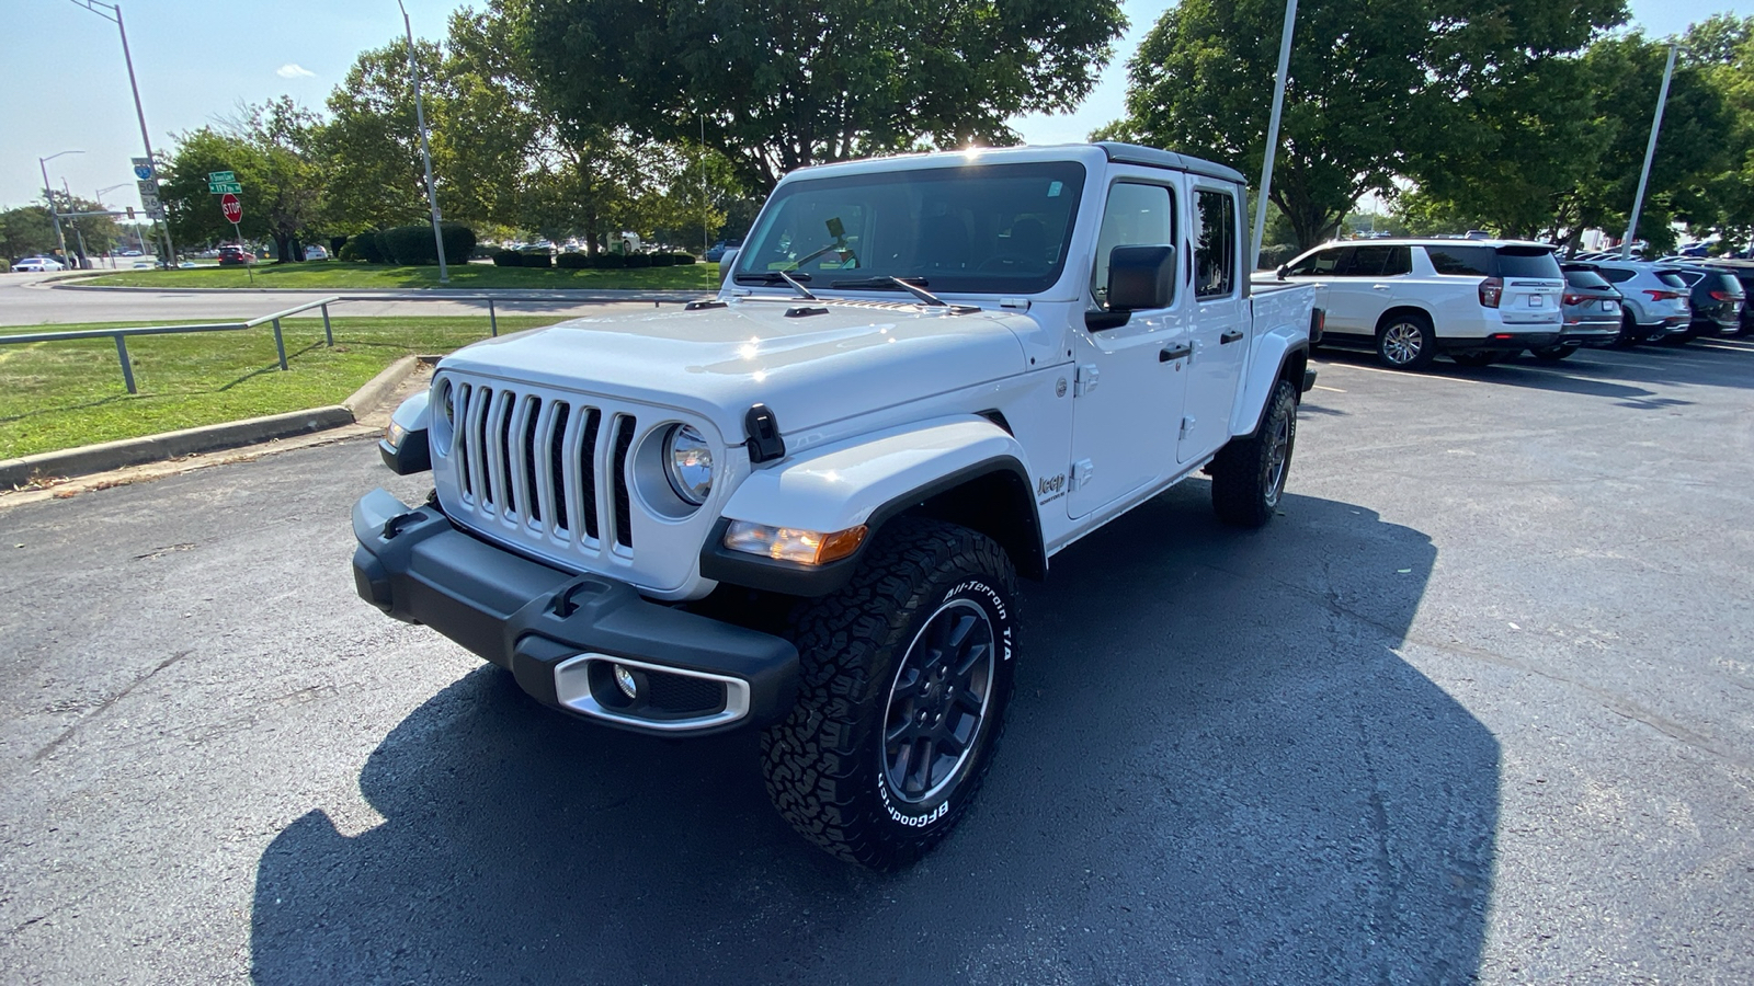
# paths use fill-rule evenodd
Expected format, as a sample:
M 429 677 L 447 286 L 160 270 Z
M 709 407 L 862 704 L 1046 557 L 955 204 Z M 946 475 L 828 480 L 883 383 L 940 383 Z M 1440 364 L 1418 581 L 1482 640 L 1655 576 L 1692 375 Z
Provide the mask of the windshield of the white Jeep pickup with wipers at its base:
M 779 284 L 786 272 L 810 291 L 1045 291 L 1059 279 L 1084 191 L 1084 165 L 965 165 L 789 182 L 774 193 L 738 284 Z

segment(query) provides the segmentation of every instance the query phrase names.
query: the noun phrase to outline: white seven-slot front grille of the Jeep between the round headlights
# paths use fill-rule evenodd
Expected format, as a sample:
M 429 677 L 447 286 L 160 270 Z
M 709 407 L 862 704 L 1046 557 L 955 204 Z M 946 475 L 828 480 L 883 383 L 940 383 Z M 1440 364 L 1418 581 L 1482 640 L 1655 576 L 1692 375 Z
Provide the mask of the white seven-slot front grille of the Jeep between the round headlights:
M 458 493 L 477 519 L 584 553 L 633 549 L 631 414 L 465 381 L 451 381 L 447 411 Z

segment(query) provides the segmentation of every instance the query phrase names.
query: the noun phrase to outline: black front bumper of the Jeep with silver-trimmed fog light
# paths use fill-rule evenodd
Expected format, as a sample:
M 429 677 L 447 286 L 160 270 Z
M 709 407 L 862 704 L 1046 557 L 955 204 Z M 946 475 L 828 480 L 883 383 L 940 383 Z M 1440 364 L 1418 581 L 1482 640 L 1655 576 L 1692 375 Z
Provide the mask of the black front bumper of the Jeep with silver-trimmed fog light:
M 374 489 L 353 507 L 353 533 L 360 598 L 510 670 L 544 705 L 633 732 L 702 735 L 775 723 L 796 698 L 791 642 L 531 561 L 460 530 L 438 507 Z M 617 668 L 635 697 L 617 686 Z

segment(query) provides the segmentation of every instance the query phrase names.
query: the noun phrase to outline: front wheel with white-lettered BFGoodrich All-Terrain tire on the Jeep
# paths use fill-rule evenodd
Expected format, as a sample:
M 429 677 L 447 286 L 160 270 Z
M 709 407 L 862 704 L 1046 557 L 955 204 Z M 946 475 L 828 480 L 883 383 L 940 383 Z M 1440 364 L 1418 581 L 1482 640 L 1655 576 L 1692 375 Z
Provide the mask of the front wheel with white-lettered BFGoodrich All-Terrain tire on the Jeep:
M 891 521 L 842 591 L 793 614 L 798 705 L 761 737 L 800 835 L 875 870 L 919 860 L 973 800 L 1005 728 L 1017 577 L 991 539 Z

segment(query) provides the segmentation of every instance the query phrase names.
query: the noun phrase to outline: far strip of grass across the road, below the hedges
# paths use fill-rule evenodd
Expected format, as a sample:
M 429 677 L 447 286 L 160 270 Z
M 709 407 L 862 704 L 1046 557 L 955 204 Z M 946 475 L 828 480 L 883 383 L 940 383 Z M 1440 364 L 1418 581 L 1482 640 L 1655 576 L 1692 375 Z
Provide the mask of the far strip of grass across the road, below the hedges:
M 254 268 L 254 288 L 438 288 L 437 267 L 388 267 L 379 263 L 342 263 L 312 260 L 307 263 L 267 263 Z M 200 267 L 195 270 L 123 270 L 82 279 L 79 284 L 116 288 L 251 288 L 242 267 Z M 521 288 L 542 291 L 635 289 L 635 291 L 712 291 L 719 286 L 717 263 L 686 267 L 644 267 L 640 270 L 561 270 L 535 267 L 493 267 L 460 263 L 451 267 L 449 289 Z

